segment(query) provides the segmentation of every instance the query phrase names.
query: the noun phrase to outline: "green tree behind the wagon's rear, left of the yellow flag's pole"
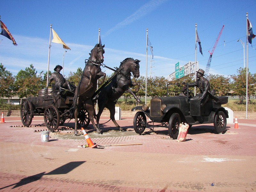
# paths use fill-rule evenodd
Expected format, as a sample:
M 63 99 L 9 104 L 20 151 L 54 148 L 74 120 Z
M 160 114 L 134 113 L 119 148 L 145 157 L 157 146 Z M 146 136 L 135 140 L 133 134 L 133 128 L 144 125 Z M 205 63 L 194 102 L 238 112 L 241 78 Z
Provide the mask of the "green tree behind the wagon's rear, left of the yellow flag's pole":
M 33 64 L 20 70 L 16 76 L 17 94 L 20 98 L 37 96 L 38 91 L 45 87 L 43 85 L 43 71 L 37 76 L 37 71 Z

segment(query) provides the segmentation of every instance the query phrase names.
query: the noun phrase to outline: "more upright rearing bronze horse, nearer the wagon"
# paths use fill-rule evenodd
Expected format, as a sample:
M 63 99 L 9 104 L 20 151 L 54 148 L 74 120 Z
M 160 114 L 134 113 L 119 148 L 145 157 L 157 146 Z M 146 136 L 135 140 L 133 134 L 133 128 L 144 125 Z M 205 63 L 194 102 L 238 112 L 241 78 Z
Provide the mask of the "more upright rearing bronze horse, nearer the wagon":
M 81 80 L 76 87 L 72 105 L 72 107 L 74 108 L 73 115 L 75 118 L 75 135 L 78 134 L 77 127 L 79 126 L 79 123 L 77 117 L 78 112 L 82 109 L 82 107 L 88 111 L 89 119 L 92 122 L 94 129 L 98 133 L 101 133 L 100 129 L 93 121 L 93 118 L 95 116 L 95 109 L 94 103 L 92 101 L 92 95 L 97 89 L 97 80 L 103 76 L 102 81 L 98 82 L 98 85 L 101 85 L 106 77 L 106 73 L 103 73 L 100 69 L 101 63 L 103 63 L 104 61 L 104 46 L 105 45 L 96 44 L 95 47 L 91 50 L 91 53 L 89 53 L 90 57 L 84 67 L 83 76 L 81 77 Z

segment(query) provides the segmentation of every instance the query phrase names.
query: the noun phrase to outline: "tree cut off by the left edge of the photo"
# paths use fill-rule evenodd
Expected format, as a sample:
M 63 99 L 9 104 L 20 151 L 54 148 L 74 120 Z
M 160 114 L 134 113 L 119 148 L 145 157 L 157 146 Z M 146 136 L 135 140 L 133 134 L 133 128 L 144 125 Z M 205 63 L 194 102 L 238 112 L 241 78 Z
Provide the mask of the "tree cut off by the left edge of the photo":
M 5 70 L 4 65 L 0 64 L 0 96 L 7 97 L 9 100 L 15 95 L 15 78 L 10 71 Z

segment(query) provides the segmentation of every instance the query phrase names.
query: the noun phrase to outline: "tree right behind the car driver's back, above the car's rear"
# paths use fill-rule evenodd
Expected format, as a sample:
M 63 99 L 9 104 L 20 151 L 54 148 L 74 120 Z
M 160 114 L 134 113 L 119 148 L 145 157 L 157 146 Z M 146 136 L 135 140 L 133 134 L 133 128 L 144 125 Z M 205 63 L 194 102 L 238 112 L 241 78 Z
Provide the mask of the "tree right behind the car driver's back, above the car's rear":
M 207 79 L 210 82 L 211 90 L 215 90 L 216 96 L 225 96 L 230 91 L 230 78 L 209 74 Z

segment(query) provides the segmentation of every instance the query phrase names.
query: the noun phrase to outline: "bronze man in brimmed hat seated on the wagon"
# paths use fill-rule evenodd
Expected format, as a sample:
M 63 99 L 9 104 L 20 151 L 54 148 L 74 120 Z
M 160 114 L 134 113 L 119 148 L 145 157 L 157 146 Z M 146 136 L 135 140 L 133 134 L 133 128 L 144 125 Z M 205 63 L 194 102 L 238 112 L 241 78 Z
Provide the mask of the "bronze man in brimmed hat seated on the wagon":
M 54 73 L 51 74 L 48 86 L 50 86 L 51 82 L 54 81 L 55 84 L 52 85 L 53 88 L 58 88 L 60 93 L 64 92 L 64 89 L 68 89 L 69 91 L 74 91 L 76 86 L 71 84 L 69 81 L 60 74 L 62 67 L 60 65 L 56 65 L 54 68 Z M 62 89 L 64 88 L 64 89 Z

